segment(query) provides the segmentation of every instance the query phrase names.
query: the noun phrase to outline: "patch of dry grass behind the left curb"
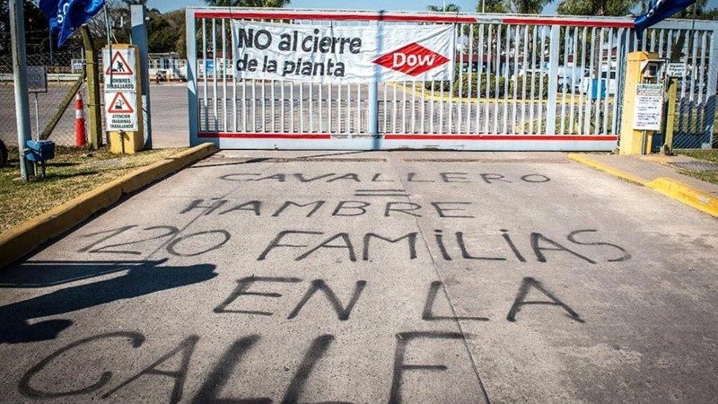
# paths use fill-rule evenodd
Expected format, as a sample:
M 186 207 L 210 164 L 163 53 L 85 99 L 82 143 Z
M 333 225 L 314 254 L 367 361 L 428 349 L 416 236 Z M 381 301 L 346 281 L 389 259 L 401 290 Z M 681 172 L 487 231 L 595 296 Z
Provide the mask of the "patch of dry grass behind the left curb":
M 26 183 L 20 178 L 17 148 L 10 149 L 10 161 L 0 168 L 0 233 L 180 150 L 183 149 L 118 155 L 110 154 L 106 148 L 89 151 L 58 146 L 56 158 L 47 164 L 46 177 Z

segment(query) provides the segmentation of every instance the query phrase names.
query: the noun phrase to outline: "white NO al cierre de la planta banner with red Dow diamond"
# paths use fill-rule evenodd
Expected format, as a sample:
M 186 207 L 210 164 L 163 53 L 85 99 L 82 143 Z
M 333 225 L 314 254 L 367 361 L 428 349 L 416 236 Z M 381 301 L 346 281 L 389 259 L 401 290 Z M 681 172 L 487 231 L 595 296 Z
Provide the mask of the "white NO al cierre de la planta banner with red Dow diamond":
M 454 25 L 232 21 L 234 76 L 312 83 L 452 80 Z

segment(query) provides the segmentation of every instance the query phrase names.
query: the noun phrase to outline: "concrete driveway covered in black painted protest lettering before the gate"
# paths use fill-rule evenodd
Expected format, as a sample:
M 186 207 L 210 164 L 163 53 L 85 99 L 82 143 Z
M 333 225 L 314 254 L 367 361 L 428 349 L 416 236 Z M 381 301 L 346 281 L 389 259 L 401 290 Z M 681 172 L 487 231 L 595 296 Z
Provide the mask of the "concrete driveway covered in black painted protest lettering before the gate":
M 712 402 L 717 229 L 564 154 L 224 151 L 0 273 L 0 400 Z

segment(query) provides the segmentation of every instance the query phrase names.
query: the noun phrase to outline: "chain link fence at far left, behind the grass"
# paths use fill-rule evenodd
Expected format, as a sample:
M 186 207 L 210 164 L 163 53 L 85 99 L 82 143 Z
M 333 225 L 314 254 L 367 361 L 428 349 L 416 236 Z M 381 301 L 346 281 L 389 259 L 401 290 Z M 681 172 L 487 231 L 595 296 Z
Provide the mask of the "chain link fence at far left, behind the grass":
M 48 79 L 47 92 L 31 90 L 28 94 L 33 139 L 39 137 L 39 134 L 45 130 L 56 114 L 61 114 L 61 118 L 50 132 L 48 139 L 57 145 L 75 145 L 74 99 L 66 109 L 59 110 L 59 108 L 69 92 L 72 92 L 74 83 L 83 74 L 82 57 L 82 54 L 74 52 L 28 55 L 28 66 L 44 66 Z M 80 87 L 80 92 L 83 100 L 87 100 L 87 89 L 84 83 Z M 86 108 L 84 116 L 87 117 Z M 0 57 L 0 122 L 2 122 L 0 139 L 5 145 L 17 146 L 17 119 L 11 57 Z M 87 119 L 85 119 L 85 133 L 87 133 Z

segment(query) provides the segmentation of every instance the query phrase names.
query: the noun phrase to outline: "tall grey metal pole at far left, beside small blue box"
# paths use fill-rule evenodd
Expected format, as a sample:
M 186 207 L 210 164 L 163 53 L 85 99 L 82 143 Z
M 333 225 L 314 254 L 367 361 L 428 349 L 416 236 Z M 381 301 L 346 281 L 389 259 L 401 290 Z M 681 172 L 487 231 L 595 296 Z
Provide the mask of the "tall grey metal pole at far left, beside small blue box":
M 10 0 L 10 40 L 13 48 L 13 79 L 15 82 L 15 116 L 17 119 L 17 146 L 20 150 L 20 172 L 29 180 L 34 170 L 25 160 L 25 147 L 32 140 L 30 128 L 30 101 L 28 100 L 28 62 L 25 49 L 25 19 L 22 0 Z

